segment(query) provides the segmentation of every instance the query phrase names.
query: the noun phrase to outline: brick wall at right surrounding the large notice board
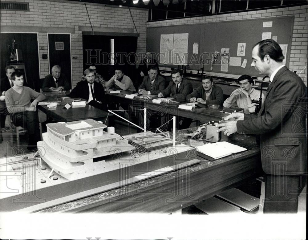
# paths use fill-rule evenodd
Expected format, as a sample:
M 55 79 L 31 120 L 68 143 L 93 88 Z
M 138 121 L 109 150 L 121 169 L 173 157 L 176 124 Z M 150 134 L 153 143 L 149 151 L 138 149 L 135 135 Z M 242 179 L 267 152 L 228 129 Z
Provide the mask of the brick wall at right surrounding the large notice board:
M 157 22 L 148 22 L 147 27 L 156 26 L 170 26 L 180 24 L 195 24 L 204 22 L 221 22 L 232 21 L 239 19 L 254 19 L 254 18 L 270 18 L 274 16 L 294 16 L 294 26 L 292 35 L 292 44 L 290 51 L 290 63 L 289 69 L 291 71 L 297 71 L 298 75 L 303 79 L 307 86 L 307 5 L 306 6 L 294 6 L 277 9 L 249 11 L 241 13 L 221 14 L 217 16 L 206 17 L 192 17 L 173 19 Z M 288 46 L 289 51 L 289 46 Z M 248 64 L 248 63 L 247 63 Z M 250 63 L 249 63 L 250 64 Z M 161 69 L 170 69 L 161 67 Z M 193 71 L 197 73 L 197 71 Z M 221 77 L 238 78 L 240 75 L 228 74 L 228 73 L 215 73 L 205 72 L 209 75 L 216 75 Z M 259 77 L 259 79 L 262 79 Z

